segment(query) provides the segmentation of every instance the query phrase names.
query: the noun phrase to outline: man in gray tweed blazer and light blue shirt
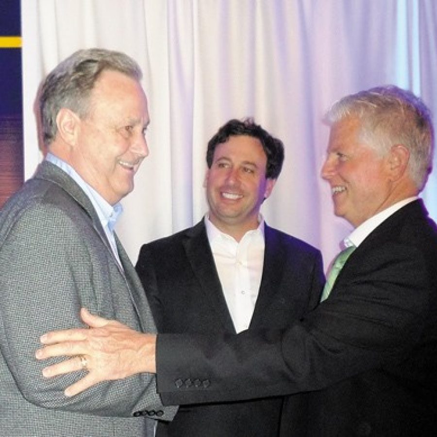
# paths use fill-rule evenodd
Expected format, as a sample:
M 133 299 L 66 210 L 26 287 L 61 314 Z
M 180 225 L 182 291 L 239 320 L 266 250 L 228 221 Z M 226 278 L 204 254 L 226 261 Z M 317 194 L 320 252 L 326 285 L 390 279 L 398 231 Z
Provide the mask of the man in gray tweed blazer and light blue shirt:
M 82 370 L 43 378 L 34 350 L 43 333 L 83 326 L 90 308 L 155 332 L 140 281 L 114 224 L 148 155 L 147 99 L 138 65 L 122 53 L 79 50 L 39 96 L 46 159 L 0 215 L 1 436 L 153 436 L 171 420 L 154 377 L 103 382 L 68 397 Z M 52 364 L 56 360 L 52 361 Z

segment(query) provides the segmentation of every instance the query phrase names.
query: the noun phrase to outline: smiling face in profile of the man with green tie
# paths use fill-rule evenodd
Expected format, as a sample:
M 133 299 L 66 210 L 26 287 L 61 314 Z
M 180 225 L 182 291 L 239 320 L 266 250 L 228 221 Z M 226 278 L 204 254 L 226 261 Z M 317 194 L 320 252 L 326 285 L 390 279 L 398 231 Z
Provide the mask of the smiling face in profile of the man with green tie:
M 354 227 L 395 202 L 390 153 L 380 156 L 361 142 L 359 129 L 359 120 L 351 117 L 332 126 L 321 170 L 331 185 L 336 216 Z

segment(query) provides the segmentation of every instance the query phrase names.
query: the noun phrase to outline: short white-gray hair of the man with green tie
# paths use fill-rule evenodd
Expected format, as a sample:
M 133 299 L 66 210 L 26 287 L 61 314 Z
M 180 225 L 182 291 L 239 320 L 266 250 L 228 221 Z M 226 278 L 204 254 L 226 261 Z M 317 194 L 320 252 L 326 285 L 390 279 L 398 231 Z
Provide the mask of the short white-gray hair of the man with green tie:
M 395 85 L 378 86 L 343 97 L 331 107 L 325 121 L 358 118 L 359 139 L 382 156 L 394 144 L 410 152 L 408 172 L 419 190 L 433 167 L 434 128 L 430 110 L 413 93 Z

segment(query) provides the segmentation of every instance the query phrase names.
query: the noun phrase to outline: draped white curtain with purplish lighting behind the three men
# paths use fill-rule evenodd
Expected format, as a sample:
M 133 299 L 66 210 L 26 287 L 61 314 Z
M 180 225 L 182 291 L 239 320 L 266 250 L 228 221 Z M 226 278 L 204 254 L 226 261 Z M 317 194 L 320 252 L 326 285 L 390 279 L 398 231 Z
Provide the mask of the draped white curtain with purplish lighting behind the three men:
M 21 9 L 26 178 L 41 160 L 33 102 L 51 68 L 104 47 L 143 69 L 151 154 L 117 229 L 134 262 L 142 243 L 202 218 L 206 143 L 228 119 L 252 116 L 286 147 L 263 214 L 319 247 L 327 266 L 350 227 L 319 177 L 325 111 L 391 83 L 437 114 L 435 0 L 22 0 Z M 423 197 L 436 218 L 437 172 Z

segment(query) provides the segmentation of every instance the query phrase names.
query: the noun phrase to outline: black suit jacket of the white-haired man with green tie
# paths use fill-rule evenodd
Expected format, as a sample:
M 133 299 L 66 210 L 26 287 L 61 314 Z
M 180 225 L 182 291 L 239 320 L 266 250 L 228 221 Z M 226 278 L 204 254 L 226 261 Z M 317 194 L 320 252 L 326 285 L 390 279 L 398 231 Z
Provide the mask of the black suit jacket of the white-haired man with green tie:
M 165 403 L 312 391 L 308 420 L 290 436 L 434 436 L 436 224 L 421 201 L 405 205 L 352 253 L 303 321 L 263 335 L 158 335 L 157 369 Z M 200 387 L 179 386 L 186 375 Z

